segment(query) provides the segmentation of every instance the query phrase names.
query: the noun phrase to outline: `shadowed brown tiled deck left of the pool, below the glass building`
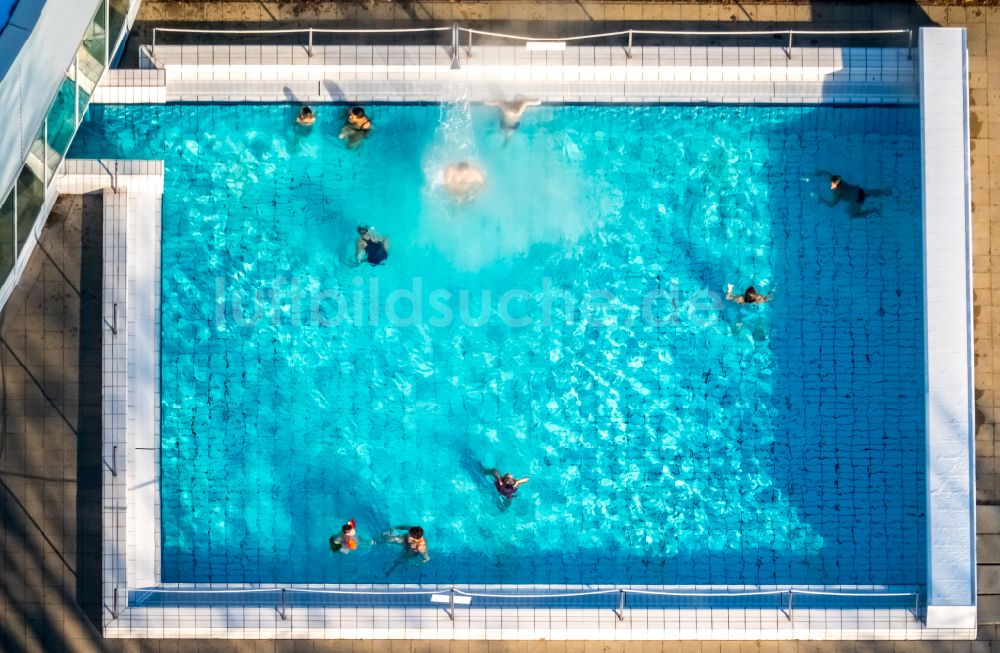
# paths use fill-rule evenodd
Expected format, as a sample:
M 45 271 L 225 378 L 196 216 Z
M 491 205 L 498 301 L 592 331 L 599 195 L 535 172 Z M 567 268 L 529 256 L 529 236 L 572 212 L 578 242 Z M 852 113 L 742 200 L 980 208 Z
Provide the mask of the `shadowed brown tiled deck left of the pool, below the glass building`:
M 101 647 L 101 214 L 60 199 L 0 323 L 5 652 Z

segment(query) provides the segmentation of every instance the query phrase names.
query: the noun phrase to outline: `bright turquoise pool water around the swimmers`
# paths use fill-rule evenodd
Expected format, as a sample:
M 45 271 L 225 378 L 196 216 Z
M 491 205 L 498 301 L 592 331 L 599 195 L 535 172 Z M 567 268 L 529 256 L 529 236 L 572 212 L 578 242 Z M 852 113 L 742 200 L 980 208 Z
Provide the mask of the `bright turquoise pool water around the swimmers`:
M 344 111 L 95 106 L 70 152 L 166 162 L 165 582 L 922 582 L 916 109 L 544 106 L 508 139 L 377 105 L 357 150 Z M 531 480 L 506 505 L 483 466 Z

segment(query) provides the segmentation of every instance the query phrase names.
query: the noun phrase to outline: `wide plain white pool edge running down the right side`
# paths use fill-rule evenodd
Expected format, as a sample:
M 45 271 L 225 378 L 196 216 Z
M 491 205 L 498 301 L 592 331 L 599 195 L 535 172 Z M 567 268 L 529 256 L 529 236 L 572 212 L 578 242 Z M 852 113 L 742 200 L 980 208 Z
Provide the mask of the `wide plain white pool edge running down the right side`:
M 975 386 L 965 29 L 923 28 L 920 50 L 927 625 L 972 628 L 976 625 Z

